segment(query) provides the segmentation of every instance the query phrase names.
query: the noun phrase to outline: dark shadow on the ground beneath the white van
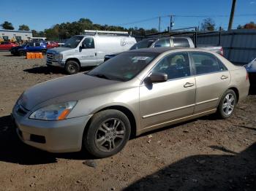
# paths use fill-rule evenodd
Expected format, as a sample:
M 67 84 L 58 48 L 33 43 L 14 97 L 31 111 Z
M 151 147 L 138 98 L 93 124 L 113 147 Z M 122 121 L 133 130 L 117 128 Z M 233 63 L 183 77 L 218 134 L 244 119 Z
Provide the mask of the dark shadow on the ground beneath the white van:
M 94 67 L 92 67 L 92 66 L 83 67 L 80 70 L 80 72 L 90 71 L 93 68 Z M 38 66 L 38 67 L 34 67 L 32 69 L 25 69 L 23 71 L 31 73 L 31 74 L 67 74 L 64 71 L 64 69 L 61 69 L 59 67 L 48 67 L 48 66 Z

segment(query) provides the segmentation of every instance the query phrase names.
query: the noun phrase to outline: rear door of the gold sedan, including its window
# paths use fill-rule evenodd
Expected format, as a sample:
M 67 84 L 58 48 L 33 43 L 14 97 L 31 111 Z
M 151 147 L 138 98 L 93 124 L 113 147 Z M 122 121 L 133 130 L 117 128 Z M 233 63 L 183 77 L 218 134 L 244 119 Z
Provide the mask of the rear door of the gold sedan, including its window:
M 197 86 L 195 113 L 215 109 L 230 83 L 230 72 L 211 53 L 190 52 L 190 56 Z

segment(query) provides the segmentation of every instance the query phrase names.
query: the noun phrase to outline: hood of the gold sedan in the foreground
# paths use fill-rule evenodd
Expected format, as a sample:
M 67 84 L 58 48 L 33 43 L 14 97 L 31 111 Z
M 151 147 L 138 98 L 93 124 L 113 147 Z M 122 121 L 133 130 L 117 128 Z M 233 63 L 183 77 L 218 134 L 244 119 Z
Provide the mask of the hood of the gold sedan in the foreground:
M 24 108 L 31 110 L 41 104 L 78 101 L 86 96 L 93 96 L 95 93 L 104 93 L 104 91 L 112 90 L 109 86 L 117 83 L 120 82 L 91 77 L 83 73 L 60 77 L 34 85 L 26 90 L 20 96 L 20 104 Z M 101 91 L 93 91 L 94 89 Z

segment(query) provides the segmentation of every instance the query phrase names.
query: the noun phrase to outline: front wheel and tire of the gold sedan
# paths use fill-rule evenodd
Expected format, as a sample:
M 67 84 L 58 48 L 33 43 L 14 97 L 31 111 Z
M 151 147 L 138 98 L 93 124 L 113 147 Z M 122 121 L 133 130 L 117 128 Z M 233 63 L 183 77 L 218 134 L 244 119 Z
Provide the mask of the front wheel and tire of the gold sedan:
M 128 117 L 116 109 L 108 109 L 92 117 L 83 134 L 83 147 L 94 157 L 110 157 L 124 148 L 130 133 Z

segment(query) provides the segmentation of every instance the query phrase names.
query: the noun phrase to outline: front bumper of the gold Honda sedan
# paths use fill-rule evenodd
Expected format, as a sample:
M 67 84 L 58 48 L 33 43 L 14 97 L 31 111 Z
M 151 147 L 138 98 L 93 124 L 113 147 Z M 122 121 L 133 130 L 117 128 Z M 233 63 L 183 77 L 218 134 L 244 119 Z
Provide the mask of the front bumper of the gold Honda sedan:
M 48 152 L 78 152 L 82 148 L 83 130 L 91 115 L 67 120 L 44 121 L 20 116 L 15 109 L 12 117 L 21 141 Z

